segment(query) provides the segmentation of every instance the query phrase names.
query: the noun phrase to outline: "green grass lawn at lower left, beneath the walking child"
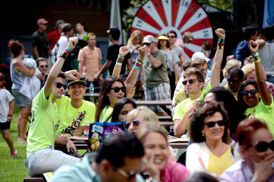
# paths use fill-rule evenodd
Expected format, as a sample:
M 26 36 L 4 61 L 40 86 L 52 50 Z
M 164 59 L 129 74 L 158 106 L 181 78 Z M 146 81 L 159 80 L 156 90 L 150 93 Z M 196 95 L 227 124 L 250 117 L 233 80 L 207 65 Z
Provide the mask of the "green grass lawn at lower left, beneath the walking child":
M 16 157 L 9 157 L 9 146 L 0 134 L 0 181 L 17 182 L 23 181 L 24 178 L 29 177 L 24 161 L 27 158 L 27 143 L 17 142 L 18 130 L 17 119 L 19 116 L 19 108 L 15 106 L 13 111 L 13 118 L 11 121 L 10 135 L 13 138 L 13 144 L 18 151 Z M 31 116 L 29 117 L 31 120 Z M 27 130 L 30 123 L 27 124 Z M 86 150 L 78 150 L 78 153 L 84 154 Z

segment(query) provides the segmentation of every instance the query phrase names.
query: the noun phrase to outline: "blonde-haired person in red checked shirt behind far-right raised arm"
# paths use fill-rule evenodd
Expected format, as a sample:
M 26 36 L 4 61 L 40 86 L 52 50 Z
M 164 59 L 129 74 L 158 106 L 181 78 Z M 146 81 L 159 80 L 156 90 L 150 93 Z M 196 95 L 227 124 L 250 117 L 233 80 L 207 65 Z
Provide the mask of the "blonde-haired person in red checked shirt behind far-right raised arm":
M 256 82 L 257 82 L 254 63 L 244 65 L 242 67 L 242 71 L 244 74 L 244 77 L 243 77 L 244 80 L 256 80 Z M 264 74 L 265 80 L 267 80 L 265 72 L 263 74 Z M 265 83 L 266 83 L 266 86 L 267 86 L 270 94 L 274 98 L 274 84 L 271 82 L 267 82 L 267 81 Z

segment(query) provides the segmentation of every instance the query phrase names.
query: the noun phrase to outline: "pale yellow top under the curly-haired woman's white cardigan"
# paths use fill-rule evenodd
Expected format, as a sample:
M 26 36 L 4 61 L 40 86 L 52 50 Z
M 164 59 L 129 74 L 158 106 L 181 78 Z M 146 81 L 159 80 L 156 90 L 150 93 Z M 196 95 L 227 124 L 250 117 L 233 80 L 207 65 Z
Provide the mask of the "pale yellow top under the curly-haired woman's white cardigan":
M 206 146 L 207 147 L 207 146 Z M 209 148 L 207 147 L 209 150 Z M 209 162 L 207 167 L 208 173 L 215 173 L 221 175 L 225 169 L 233 165 L 231 157 L 231 148 L 229 148 L 221 157 L 216 157 L 210 150 Z

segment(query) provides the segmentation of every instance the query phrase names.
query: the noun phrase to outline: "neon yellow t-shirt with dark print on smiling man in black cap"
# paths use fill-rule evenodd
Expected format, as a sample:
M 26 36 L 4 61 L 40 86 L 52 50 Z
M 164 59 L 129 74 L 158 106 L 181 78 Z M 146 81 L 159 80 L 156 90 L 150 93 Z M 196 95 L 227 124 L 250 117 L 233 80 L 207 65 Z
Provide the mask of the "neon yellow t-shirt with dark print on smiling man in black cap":
M 95 117 L 95 104 L 92 102 L 83 100 L 80 108 L 74 108 L 70 104 L 70 98 L 62 96 L 61 99 L 57 99 L 58 113 L 60 122 L 55 125 L 57 129 L 56 135 L 61 134 L 73 134 L 80 126 L 85 126 L 86 121 L 90 123 L 94 122 Z

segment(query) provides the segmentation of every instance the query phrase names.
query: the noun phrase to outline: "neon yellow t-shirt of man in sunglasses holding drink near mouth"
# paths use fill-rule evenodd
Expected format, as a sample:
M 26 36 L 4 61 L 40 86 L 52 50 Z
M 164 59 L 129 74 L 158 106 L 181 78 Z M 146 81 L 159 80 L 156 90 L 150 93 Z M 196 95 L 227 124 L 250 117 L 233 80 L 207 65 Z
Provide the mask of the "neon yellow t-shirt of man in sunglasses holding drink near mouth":
M 202 91 L 201 96 L 199 98 L 202 99 L 202 101 L 204 100 L 205 94 L 212 89 L 211 85 L 208 84 L 206 89 Z M 197 98 L 198 99 L 198 98 Z M 195 100 L 197 100 L 195 99 Z M 186 113 L 186 110 L 188 110 L 188 108 L 190 107 L 190 105 L 195 101 L 195 100 L 190 100 L 189 98 L 183 100 L 182 102 L 180 102 L 179 104 L 177 104 L 175 111 L 174 111 L 174 116 L 172 121 L 175 122 L 175 120 L 181 120 L 184 117 L 184 114 Z M 188 116 L 188 123 L 186 124 L 186 130 L 189 130 L 189 124 L 190 124 L 190 120 L 192 118 L 193 114 L 190 113 L 190 115 Z

